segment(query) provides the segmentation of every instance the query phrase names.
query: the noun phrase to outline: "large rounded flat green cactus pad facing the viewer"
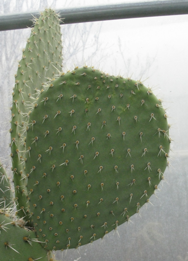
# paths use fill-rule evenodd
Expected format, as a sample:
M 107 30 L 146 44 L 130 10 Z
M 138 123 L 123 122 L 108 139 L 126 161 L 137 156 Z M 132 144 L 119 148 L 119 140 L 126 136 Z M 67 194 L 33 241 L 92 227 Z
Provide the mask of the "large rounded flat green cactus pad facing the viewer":
M 165 110 L 140 81 L 75 68 L 30 114 L 30 210 L 48 250 L 76 248 L 138 213 L 168 165 Z

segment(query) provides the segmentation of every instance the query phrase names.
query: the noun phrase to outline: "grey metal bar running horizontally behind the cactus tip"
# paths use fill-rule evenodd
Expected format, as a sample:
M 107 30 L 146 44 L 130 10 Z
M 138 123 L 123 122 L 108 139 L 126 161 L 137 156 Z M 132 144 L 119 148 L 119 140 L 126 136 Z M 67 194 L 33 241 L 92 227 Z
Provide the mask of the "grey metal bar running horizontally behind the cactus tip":
M 94 21 L 188 14 L 188 0 L 161 0 L 137 3 L 120 3 L 77 8 L 64 8 L 58 11 L 65 24 Z M 36 17 L 39 12 L 32 12 Z M 0 31 L 23 29 L 32 26 L 31 13 L 0 16 Z

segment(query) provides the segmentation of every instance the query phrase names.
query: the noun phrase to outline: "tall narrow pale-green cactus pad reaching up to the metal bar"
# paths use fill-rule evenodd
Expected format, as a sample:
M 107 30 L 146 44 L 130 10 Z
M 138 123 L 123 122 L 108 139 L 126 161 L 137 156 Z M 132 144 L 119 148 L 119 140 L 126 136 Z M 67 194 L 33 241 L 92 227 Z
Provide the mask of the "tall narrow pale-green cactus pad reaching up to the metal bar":
M 18 215 L 28 217 L 29 204 L 25 174 L 25 140 L 35 122 L 29 118 L 38 95 L 49 79 L 58 74 L 62 62 L 61 32 L 58 15 L 51 9 L 34 18 L 34 27 L 22 49 L 22 59 L 15 74 L 11 108 L 11 159 Z M 34 101 L 34 103 L 33 103 Z M 31 106 L 31 103 L 32 106 Z

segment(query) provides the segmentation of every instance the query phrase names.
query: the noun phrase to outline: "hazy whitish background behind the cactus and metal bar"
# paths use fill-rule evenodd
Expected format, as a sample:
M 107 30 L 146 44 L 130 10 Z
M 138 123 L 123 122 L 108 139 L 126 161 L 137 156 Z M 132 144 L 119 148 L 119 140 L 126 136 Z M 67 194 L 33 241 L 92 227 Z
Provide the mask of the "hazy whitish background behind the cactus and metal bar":
M 0 0 L 0 15 L 112 3 L 117 1 Z M 118 233 L 112 231 L 102 241 L 66 253 L 58 251 L 56 259 L 188 261 L 188 15 L 68 25 L 65 19 L 61 31 L 64 71 L 86 64 L 141 79 L 164 101 L 174 142 L 161 191 L 151 197 L 152 205 L 141 208 L 141 216 L 131 217 L 130 224 L 122 224 Z M 0 158 L 7 170 L 11 90 L 29 35 L 30 29 L 0 32 Z

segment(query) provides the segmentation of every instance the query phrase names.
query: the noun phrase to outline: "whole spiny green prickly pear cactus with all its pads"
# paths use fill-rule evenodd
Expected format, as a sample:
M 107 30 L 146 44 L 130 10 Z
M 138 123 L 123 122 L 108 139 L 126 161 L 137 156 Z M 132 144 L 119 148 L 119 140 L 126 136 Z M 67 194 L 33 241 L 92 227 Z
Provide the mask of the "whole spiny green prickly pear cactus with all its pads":
M 63 73 L 59 20 L 51 9 L 34 19 L 15 75 L 15 196 L 6 198 L 16 203 L 16 216 L 8 204 L 0 212 L 7 261 L 8 251 L 15 251 L 15 260 L 52 261 L 53 250 L 103 238 L 149 202 L 169 164 L 161 101 L 141 81 L 93 67 Z M 1 174 L 5 193 L 9 180 L 4 169 Z

